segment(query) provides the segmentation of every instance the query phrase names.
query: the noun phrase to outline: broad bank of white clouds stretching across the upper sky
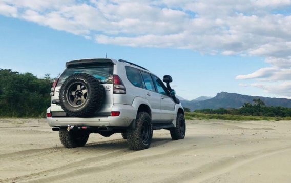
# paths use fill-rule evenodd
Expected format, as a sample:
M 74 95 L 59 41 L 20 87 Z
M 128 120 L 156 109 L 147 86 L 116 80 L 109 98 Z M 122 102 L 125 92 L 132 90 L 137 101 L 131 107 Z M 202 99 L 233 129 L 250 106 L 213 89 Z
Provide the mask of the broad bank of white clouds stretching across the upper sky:
M 0 0 L 0 14 L 102 44 L 260 56 L 269 67 L 236 78 L 289 82 L 290 5 L 291 0 Z

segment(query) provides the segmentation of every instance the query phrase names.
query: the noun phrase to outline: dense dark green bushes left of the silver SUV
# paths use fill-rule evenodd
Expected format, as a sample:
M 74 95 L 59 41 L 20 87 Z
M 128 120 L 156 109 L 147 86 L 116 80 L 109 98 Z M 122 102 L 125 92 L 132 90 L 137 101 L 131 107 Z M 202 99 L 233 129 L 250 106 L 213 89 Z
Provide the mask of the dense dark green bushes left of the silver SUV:
M 0 117 L 45 117 L 53 80 L 0 70 Z

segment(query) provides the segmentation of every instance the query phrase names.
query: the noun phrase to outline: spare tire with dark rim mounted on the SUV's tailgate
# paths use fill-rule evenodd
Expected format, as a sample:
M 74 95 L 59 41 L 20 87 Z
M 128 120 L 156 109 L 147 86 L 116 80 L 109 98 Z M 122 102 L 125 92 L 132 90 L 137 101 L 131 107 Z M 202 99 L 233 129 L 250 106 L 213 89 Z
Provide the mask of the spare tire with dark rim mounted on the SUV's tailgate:
M 77 73 L 68 77 L 59 90 L 61 108 L 73 117 L 91 117 L 104 101 L 105 90 L 92 75 Z

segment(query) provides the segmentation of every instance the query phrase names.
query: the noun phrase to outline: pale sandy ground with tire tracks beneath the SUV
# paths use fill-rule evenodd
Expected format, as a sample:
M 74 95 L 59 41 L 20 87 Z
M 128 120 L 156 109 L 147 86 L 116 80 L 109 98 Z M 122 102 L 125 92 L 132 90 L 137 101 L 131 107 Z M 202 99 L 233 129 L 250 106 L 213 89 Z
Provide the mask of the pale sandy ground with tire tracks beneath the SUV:
M 44 119 L 0 119 L 0 182 L 291 182 L 291 121 L 187 121 L 131 151 L 120 134 L 65 149 Z

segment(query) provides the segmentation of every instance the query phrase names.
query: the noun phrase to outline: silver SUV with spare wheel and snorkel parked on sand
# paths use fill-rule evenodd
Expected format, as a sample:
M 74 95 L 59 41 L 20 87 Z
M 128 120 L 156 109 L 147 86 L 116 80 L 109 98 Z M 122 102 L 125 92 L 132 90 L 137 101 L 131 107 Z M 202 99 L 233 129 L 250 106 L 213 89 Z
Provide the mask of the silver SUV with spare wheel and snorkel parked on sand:
M 183 107 L 170 87 L 172 77 L 163 82 L 122 59 L 67 62 L 51 89 L 48 124 L 66 148 L 84 146 L 90 133 L 121 133 L 132 150 L 149 148 L 153 130 L 167 129 L 173 140 L 183 139 Z

